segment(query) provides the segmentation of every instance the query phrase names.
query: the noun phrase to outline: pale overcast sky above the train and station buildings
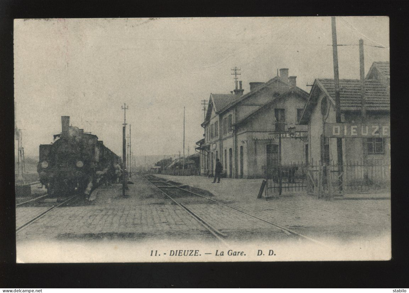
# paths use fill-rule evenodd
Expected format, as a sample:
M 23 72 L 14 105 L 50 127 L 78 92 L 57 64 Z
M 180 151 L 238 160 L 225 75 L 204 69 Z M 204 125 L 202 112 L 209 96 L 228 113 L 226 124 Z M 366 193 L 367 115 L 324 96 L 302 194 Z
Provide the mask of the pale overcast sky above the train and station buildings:
M 389 19 L 337 17 L 340 78 L 359 79 L 389 61 Z M 17 125 L 27 156 L 61 132 L 61 116 L 122 150 L 124 102 L 134 154 L 193 154 L 202 139 L 201 100 L 234 89 L 231 68 L 266 82 L 289 68 L 307 92 L 315 78 L 333 78 L 330 17 L 33 19 L 14 23 Z M 383 46 L 386 48 L 378 48 Z M 129 124 L 127 129 L 129 130 Z

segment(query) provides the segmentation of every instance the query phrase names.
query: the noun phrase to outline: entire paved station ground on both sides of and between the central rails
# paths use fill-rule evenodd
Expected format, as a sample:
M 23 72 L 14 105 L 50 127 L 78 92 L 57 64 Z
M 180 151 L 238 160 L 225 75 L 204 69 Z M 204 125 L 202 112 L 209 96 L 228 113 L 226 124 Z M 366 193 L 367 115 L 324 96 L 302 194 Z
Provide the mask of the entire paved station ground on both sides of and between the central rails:
M 213 193 L 214 199 L 316 238 L 355 240 L 357 237 L 390 234 L 389 200 L 326 201 L 286 194 L 257 200 L 260 179 L 222 180 L 211 184 L 204 177 L 161 176 Z M 17 233 L 17 241 L 33 239 L 213 239 L 209 232 L 181 207 L 142 178 L 129 184 L 129 198 L 121 198 L 121 185 L 101 186 L 95 201 L 77 198 L 45 214 Z M 190 181 L 189 181 L 190 180 Z M 243 181 L 245 180 L 245 181 Z M 285 238 L 281 230 L 196 196 L 178 200 L 234 240 Z M 41 211 L 17 209 L 17 225 Z M 42 207 L 41 209 L 47 209 Z

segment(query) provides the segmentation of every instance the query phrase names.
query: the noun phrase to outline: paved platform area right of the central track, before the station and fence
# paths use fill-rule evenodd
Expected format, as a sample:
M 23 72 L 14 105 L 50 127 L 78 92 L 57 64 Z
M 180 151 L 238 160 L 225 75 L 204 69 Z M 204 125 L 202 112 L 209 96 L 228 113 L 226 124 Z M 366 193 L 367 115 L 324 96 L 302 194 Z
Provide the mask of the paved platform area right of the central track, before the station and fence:
M 215 200 L 309 236 L 348 241 L 391 233 L 390 200 L 328 201 L 306 193 L 265 200 L 256 199 L 262 179 L 222 179 L 212 184 L 207 177 L 158 176 L 205 189 Z

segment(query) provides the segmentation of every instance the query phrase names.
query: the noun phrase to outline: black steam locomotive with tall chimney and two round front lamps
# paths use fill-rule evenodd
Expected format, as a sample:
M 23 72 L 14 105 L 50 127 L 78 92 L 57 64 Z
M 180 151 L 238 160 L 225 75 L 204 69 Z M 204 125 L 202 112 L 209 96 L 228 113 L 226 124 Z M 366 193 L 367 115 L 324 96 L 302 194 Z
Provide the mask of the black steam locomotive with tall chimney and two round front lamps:
M 88 194 L 101 174 L 111 174 L 121 158 L 94 134 L 70 126 L 70 116 L 61 116 L 62 131 L 51 144 L 40 145 L 37 166 L 40 182 L 54 196 Z

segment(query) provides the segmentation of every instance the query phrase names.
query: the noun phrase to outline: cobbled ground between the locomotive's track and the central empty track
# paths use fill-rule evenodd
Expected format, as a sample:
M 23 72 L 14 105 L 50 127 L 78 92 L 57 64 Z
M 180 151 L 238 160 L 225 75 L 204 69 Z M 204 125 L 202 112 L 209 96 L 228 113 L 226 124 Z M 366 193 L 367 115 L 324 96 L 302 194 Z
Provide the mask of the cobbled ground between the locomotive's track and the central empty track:
M 77 198 L 58 207 L 17 233 L 17 241 L 38 238 L 160 238 L 164 235 L 210 238 L 207 230 L 182 208 L 143 180 L 129 184 L 129 198 L 121 198 L 121 185 L 101 186 L 94 202 Z M 18 223 L 38 208 L 18 208 Z M 20 212 L 21 211 L 21 212 Z

